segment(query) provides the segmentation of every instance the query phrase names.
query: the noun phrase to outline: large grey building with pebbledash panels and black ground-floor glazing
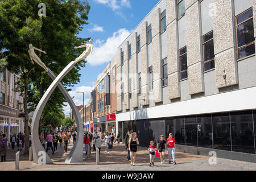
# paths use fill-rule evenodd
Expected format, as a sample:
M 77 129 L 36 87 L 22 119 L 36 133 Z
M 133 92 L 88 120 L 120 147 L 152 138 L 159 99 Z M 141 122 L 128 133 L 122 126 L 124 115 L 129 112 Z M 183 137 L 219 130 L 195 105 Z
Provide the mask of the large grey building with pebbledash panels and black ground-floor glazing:
M 255 0 L 159 1 L 113 59 L 117 133 L 256 162 L 255 36 Z

